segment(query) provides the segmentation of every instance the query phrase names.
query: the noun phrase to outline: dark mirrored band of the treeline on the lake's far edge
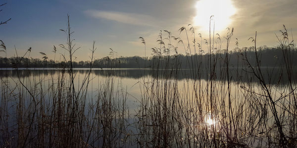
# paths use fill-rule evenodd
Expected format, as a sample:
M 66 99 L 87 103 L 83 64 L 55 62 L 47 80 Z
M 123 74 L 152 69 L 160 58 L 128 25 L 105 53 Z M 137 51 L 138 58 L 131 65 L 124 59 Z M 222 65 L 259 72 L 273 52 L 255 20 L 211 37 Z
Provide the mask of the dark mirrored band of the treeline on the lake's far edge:
M 39 76 L 39 75 L 56 75 L 60 72 L 62 72 L 62 69 L 57 68 L 28 68 L 28 69 L 0 69 L 0 77 L 29 77 L 29 76 Z M 88 68 L 75 68 L 74 72 L 78 74 L 86 74 L 88 73 Z M 67 72 L 67 70 L 64 70 L 64 72 Z M 133 78 L 133 79 L 139 79 L 143 77 L 152 77 L 152 78 L 166 78 L 166 79 L 203 79 L 208 80 L 210 77 L 209 73 L 206 72 L 198 72 L 193 71 L 191 69 L 178 69 L 178 70 L 151 70 L 151 69 L 126 69 L 126 68 L 118 68 L 118 69 L 93 69 L 91 74 L 95 76 L 103 76 L 107 77 L 111 74 L 113 76 L 119 77 L 119 78 Z M 220 74 L 220 75 L 218 75 Z M 216 71 L 214 73 L 215 80 L 219 81 L 226 81 L 225 73 L 222 71 Z M 237 83 L 244 83 L 244 82 L 250 82 L 250 80 L 254 80 L 254 75 L 252 73 L 246 72 L 246 73 L 237 73 L 236 69 L 230 69 L 230 78 L 232 81 Z M 275 71 L 271 68 L 263 68 L 263 78 L 267 84 L 287 84 L 289 82 L 288 76 L 285 74 L 282 74 L 281 71 Z M 282 79 L 281 79 L 282 78 Z M 297 75 L 293 76 L 293 80 L 297 79 Z M 258 82 L 256 82 L 258 83 Z

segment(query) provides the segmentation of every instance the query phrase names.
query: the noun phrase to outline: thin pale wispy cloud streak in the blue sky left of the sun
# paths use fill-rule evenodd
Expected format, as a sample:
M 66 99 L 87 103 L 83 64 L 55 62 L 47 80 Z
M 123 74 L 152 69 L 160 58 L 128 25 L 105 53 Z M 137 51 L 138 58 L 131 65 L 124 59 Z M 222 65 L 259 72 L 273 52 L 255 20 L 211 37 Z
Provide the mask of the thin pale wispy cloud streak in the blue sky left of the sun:
M 153 17 L 144 14 L 99 10 L 87 10 L 85 13 L 94 18 L 108 19 L 132 25 L 155 26 L 154 22 L 156 22 Z

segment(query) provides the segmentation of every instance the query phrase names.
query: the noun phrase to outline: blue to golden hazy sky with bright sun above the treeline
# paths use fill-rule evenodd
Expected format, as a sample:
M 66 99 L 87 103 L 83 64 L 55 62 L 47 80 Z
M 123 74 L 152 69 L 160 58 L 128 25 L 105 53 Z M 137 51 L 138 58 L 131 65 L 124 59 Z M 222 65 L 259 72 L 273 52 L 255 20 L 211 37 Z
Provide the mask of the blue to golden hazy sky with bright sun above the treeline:
M 188 24 L 194 26 L 196 41 L 201 42 L 198 33 L 209 40 L 211 15 L 211 26 L 214 24 L 215 34 L 221 36 L 222 49 L 227 27 L 234 28 L 231 48 L 236 38 L 239 48 L 253 46 L 247 39 L 256 31 L 257 46 L 277 46 L 276 35 L 280 35 L 283 24 L 293 38 L 297 32 L 296 0 L 1 0 L 6 2 L 0 7 L 0 21 L 11 20 L 0 25 L 0 40 L 6 45 L 7 56 L 16 55 L 14 46 L 18 55 L 31 47 L 33 58 L 41 58 L 39 52 L 45 52 L 53 59 L 53 46 L 57 47 L 56 54 L 64 54 L 58 45 L 66 44 L 66 35 L 59 29 L 67 28 L 67 14 L 75 46 L 80 47 L 74 54 L 77 61 L 89 59 L 93 41 L 96 58 L 108 56 L 110 48 L 117 56 L 145 56 L 139 37 L 146 40 L 146 53 L 151 56 L 151 48 L 159 46 L 156 40 L 160 31 L 164 38 L 167 35 L 163 30 L 167 30 L 187 43 L 185 32 L 179 32 L 181 27 L 187 28 L 192 43 Z M 202 44 L 206 48 L 204 41 Z M 185 53 L 181 45 L 178 52 Z M 0 56 L 5 54 L 1 52 Z

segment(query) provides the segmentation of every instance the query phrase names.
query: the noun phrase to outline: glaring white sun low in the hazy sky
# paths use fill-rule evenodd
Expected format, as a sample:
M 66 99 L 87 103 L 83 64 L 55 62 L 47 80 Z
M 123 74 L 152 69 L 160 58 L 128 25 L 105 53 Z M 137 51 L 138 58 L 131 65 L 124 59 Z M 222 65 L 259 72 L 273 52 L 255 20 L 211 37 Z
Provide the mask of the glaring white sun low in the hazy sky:
M 210 16 L 213 15 L 215 31 L 222 31 L 231 24 L 231 16 L 236 13 L 231 0 L 198 0 L 195 6 L 194 25 L 203 31 L 209 31 Z

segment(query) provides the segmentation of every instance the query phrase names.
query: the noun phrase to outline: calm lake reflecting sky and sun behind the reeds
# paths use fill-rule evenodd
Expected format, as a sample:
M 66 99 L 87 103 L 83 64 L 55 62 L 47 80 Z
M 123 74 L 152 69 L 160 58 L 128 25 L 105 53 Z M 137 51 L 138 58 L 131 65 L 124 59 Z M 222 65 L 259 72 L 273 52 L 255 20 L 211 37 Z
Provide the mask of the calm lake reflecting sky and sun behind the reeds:
M 2 68 L 1 144 L 59 146 L 71 137 L 90 147 L 279 142 L 278 124 L 287 136 L 296 132 L 297 85 L 284 69 L 263 71 L 260 81 L 243 68 L 231 68 L 229 80 L 224 68 Z M 59 139 L 65 133 L 71 136 Z M 13 144 L 17 138 L 23 143 Z

